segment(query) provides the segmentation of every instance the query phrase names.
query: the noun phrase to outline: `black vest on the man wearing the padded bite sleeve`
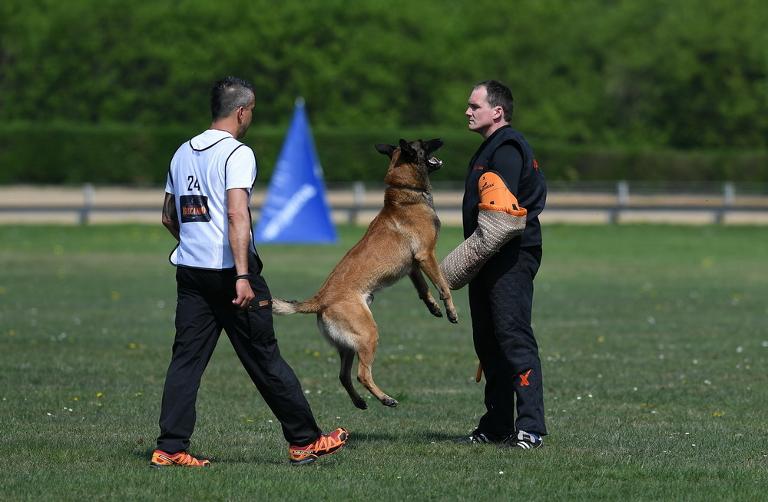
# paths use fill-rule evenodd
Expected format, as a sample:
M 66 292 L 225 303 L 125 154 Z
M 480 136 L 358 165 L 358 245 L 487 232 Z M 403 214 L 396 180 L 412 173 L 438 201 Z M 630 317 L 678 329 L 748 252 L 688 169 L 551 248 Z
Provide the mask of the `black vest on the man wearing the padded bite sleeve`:
M 480 193 L 477 183 L 486 170 L 493 170 L 493 154 L 502 145 L 514 145 L 523 158 L 523 168 L 518 180 L 518 193 L 514 195 L 522 207 L 528 210 L 525 231 L 520 237 L 512 239 L 505 248 L 510 246 L 531 247 L 541 246 L 541 225 L 539 214 L 544 209 L 547 199 L 547 184 L 544 173 L 539 169 L 531 145 L 525 137 L 509 126 L 504 126 L 494 132 L 477 149 L 469 161 L 467 178 L 464 183 L 464 200 L 462 201 L 462 218 L 464 222 L 464 238 L 469 237 L 477 228 L 477 205 L 480 203 Z M 512 180 L 504 180 L 508 185 Z

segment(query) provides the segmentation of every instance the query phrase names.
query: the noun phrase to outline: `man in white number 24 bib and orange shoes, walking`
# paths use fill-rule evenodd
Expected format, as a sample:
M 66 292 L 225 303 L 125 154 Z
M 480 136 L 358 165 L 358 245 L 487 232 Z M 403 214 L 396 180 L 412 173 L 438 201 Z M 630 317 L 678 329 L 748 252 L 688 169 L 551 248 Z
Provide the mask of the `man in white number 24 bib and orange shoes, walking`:
M 152 467 L 210 465 L 188 450 L 200 379 L 222 329 L 280 421 L 292 464 L 333 453 L 348 437 L 343 428 L 320 431 L 275 339 L 272 298 L 251 234 L 256 157 L 238 141 L 251 125 L 254 106 L 249 82 L 235 77 L 216 82 L 210 128 L 182 144 L 168 170 L 163 225 L 179 241 L 171 254 L 177 267 L 176 338 Z

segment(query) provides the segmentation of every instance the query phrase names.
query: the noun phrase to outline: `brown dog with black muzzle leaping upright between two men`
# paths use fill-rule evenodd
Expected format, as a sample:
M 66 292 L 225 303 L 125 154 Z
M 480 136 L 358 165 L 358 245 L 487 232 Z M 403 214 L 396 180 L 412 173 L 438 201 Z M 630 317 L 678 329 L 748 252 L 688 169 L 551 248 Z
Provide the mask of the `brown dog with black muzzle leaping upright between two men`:
M 384 182 L 384 208 L 368 227 L 363 238 L 344 255 L 315 296 L 304 302 L 274 299 L 276 314 L 316 313 L 323 335 L 341 357 L 339 379 L 352 402 L 360 409 L 365 401 L 352 386 L 352 362 L 357 353 L 357 379 L 386 406 L 397 401 L 385 394 L 373 381 L 371 367 L 378 343 L 378 330 L 369 309 L 373 292 L 389 286 L 406 274 L 416 286 L 419 298 L 436 317 L 440 306 L 429 292 L 421 271 L 440 291 L 448 320 L 458 321 L 448 283 L 435 258 L 435 244 L 440 220 L 432 205 L 429 173 L 442 162 L 432 152 L 442 146 L 430 141 L 400 140 L 400 146 L 376 145 L 389 156 Z

